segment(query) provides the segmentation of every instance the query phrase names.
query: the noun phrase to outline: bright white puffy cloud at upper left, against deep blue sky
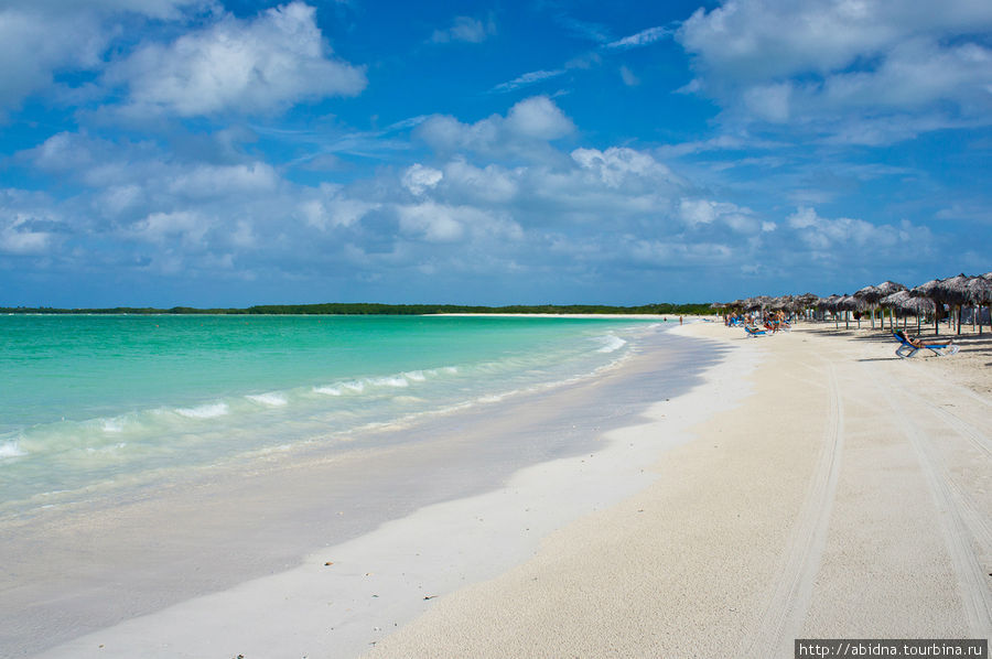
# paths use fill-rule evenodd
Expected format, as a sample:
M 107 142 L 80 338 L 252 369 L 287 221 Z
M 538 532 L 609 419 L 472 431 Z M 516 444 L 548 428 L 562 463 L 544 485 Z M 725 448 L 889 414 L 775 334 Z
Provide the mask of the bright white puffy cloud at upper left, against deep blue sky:
M 251 20 L 225 14 L 170 44 L 137 48 L 105 82 L 128 89 L 127 112 L 180 117 L 271 112 L 360 93 L 364 68 L 331 55 L 314 13 L 292 2 Z

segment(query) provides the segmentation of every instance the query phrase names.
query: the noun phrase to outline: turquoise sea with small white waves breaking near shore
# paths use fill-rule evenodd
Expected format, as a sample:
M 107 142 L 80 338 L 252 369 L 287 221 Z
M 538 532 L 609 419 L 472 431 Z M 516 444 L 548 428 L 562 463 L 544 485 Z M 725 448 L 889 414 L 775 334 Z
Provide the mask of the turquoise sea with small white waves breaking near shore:
M 0 516 L 591 377 L 657 323 L 456 316 L 0 316 Z

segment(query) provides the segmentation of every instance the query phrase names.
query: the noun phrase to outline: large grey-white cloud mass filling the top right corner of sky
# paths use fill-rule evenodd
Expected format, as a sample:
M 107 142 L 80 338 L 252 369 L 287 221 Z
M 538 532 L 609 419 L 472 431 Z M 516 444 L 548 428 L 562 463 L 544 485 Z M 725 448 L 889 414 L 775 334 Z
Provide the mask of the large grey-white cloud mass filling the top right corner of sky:
M 975 35 L 990 29 L 992 4 L 974 0 L 939 12 L 926 0 L 730 0 L 677 39 L 693 56 L 690 90 L 730 117 L 877 143 L 989 122 L 992 51 Z

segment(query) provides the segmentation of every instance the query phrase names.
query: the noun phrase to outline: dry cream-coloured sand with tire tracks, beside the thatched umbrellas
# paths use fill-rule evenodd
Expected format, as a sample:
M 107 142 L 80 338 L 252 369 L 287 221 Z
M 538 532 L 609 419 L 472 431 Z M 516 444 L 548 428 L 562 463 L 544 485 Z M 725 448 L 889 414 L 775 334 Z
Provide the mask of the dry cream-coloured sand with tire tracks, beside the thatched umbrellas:
M 692 428 L 645 489 L 370 658 L 791 657 L 797 637 L 992 636 L 988 344 L 901 360 L 866 331 L 683 331 L 757 353 L 708 385 L 753 393 Z M 656 417 L 638 432 L 664 433 Z

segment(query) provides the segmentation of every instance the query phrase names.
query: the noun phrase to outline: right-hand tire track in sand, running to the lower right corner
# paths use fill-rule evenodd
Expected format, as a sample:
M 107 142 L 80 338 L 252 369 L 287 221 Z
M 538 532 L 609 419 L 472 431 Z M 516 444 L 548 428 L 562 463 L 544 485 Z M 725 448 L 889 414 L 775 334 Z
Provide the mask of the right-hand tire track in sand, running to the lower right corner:
M 932 494 L 940 531 L 958 577 L 958 592 L 968 629 L 973 638 L 988 638 L 992 635 L 992 592 L 985 583 L 985 573 L 971 543 L 973 538 L 985 550 L 989 549 L 984 544 L 989 541 L 984 516 L 974 501 L 948 477 L 931 442 L 909 421 L 908 410 L 895 399 L 888 388 L 880 386 L 878 389 L 892 408 L 893 418 L 898 420 L 903 434 L 909 440 Z M 944 414 L 935 413 L 942 411 L 935 406 L 915 406 L 916 410 L 928 408 L 938 419 L 944 418 Z M 974 442 L 973 432 L 967 432 L 964 436 Z M 983 446 L 979 444 L 979 447 Z

